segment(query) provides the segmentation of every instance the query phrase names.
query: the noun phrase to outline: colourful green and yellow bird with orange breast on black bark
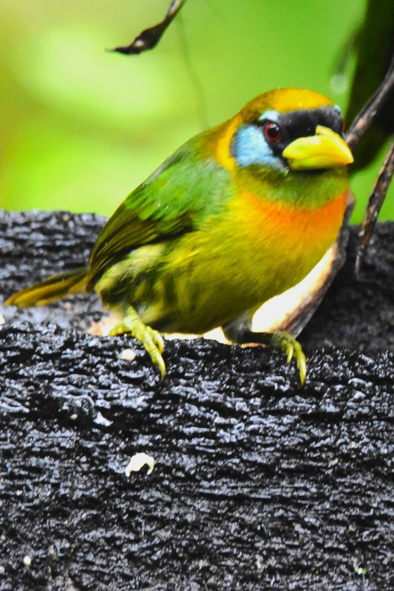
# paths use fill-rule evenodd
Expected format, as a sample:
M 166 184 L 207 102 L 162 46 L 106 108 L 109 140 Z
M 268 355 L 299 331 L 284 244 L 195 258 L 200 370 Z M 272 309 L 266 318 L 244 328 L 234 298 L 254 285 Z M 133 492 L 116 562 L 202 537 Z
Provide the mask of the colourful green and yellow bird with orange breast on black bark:
M 163 379 L 162 333 L 222 327 L 307 366 L 289 333 L 252 332 L 261 305 L 301 281 L 336 241 L 346 211 L 340 108 L 279 87 L 201 132 L 136 187 L 109 218 L 86 267 L 51 275 L 7 305 L 42 306 L 95 290 L 121 317 L 111 335 L 142 343 Z

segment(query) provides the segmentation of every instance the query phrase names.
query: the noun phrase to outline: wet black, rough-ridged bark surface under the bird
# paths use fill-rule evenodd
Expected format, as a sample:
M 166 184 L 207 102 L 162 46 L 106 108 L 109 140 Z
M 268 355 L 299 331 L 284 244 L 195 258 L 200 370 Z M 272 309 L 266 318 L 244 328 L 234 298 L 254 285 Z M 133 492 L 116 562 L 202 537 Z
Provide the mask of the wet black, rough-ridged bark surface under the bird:
M 0 301 L 86 264 L 103 222 L 0 213 Z M 394 225 L 360 281 L 355 236 L 304 388 L 281 353 L 202 339 L 166 343 L 161 382 L 83 332 L 94 296 L 0 307 L 0 589 L 392 590 Z M 155 468 L 126 478 L 136 452 Z

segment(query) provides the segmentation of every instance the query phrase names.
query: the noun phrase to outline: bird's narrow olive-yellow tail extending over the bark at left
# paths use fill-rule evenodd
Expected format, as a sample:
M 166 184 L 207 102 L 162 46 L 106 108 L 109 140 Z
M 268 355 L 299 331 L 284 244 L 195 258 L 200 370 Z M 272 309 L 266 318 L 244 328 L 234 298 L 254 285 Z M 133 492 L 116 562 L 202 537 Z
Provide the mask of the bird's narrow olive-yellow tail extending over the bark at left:
M 51 301 L 60 300 L 71 294 L 86 293 L 87 267 L 51 275 L 41 283 L 17 291 L 6 302 L 6 306 L 45 306 Z

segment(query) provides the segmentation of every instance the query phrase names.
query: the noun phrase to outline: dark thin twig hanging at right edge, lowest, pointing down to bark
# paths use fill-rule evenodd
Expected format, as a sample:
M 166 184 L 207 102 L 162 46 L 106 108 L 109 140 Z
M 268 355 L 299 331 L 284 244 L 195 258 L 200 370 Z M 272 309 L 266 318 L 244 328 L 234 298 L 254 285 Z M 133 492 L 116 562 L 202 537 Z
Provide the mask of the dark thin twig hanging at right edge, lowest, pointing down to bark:
M 356 256 L 356 275 L 359 277 L 361 265 L 366 253 L 367 245 L 371 239 L 377 216 L 380 208 L 386 197 L 392 176 L 394 173 L 394 141 L 390 146 L 390 150 L 386 156 L 385 162 L 379 171 L 379 176 L 376 179 L 375 187 L 369 198 L 367 209 L 364 214 L 363 225 L 359 234 L 359 244 L 357 246 Z

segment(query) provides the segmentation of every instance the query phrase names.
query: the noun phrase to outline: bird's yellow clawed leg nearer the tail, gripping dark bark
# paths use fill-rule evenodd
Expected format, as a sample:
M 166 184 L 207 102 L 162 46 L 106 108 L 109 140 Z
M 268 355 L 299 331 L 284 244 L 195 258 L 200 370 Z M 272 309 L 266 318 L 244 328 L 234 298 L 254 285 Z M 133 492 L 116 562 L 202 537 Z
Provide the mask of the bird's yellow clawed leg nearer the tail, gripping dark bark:
M 165 363 L 161 356 L 161 353 L 164 350 L 162 336 L 157 330 L 152 329 L 150 326 L 146 326 L 146 324 L 142 322 L 138 312 L 132 306 L 128 306 L 123 320 L 116 324 L 109 334 L 115 336 L 123 335 L 123 333 L 131 333 L 135 339 L 139 340 L 139 342 L 144 345 L 146 353 L 149 353 L 152 362 L 159 366 L 161 379 L 164 379 Z

